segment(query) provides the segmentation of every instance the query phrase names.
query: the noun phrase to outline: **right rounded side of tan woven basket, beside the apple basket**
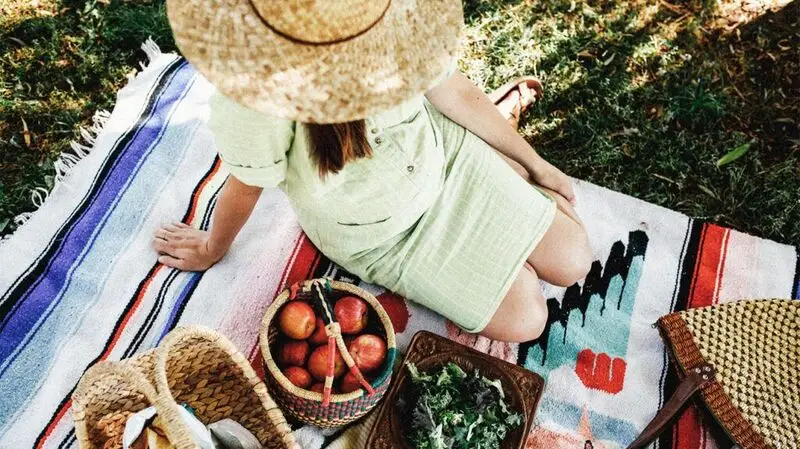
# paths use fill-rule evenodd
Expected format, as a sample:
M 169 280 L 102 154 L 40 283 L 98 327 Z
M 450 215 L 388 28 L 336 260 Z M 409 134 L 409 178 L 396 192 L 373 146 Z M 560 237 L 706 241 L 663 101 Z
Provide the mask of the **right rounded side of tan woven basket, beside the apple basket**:
M 165 432 L 177 449 L 194 449 L 180 419 L 179 404 L 204 424 L 233 419 L 267 449 L 299 449 L 283 413 L 250 363 L 221 334 L 200 326 L 171 332 L 159 345 L 156 386 L 167 409 Z

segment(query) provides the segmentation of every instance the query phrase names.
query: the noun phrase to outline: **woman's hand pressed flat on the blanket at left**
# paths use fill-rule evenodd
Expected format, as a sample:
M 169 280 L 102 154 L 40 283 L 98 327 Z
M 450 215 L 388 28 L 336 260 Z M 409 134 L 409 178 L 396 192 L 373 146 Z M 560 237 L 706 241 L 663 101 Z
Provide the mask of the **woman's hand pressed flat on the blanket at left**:
M 184 223 L 166 225 L 156 231 L 153 247 L 158 251 L 158 261 L 183 271 L 205 271 L 217 263 L 228 251 L 218 248 L 211 233 L 192 228 Z

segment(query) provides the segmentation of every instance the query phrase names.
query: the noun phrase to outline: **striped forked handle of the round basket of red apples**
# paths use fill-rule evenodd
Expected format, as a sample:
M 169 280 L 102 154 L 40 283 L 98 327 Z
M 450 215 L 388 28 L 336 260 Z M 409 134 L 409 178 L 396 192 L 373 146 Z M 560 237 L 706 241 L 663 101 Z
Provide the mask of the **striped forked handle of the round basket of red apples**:
M 331 291 L 330 282 L 328 279 L 314 279 L 310 284 L 310 288 L 314 292 L 312 307 L 317 309 L 317 312 L 322 316 L 322 321 L 325 323 L 325 334 L 328 336 L 328 371 L 325 375 L 325 386 L 322 390 L 322 406 L 327 407 L 331 402 L 337 348 L 342 355 L 342 359 L 344 359 L 345 365 L 358 380 L 358 383 L 367 391 L 369 396 L 374 395 L 375 389 L 364 378 L 361 370 L 358 369 L 353 357 L 347 350 L 347 346 L 344 344 L 342 328 L 334 317 L 333 306 L 327 294 Z

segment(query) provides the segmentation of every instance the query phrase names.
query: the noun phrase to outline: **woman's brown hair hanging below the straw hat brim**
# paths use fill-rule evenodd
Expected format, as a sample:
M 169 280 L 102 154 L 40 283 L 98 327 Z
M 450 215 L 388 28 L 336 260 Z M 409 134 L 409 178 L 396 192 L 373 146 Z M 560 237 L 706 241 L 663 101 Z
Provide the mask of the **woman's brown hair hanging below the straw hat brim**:
M 328 173 L 339 173 L 348 162 L 372 156 L 364 120 L 305 126 L 311 141 L 311 160 L 317 164 L 322 178 Z

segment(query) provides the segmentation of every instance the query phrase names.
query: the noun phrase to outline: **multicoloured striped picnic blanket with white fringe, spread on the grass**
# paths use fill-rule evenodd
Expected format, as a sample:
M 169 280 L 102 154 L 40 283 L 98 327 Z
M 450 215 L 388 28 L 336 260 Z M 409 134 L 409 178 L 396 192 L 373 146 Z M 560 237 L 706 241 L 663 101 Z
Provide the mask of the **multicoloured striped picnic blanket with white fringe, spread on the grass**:
M 544 376 L 529 447 L 616 448 L 675 388 L 652 327 L 659 316 L 798 296 L 796 248 L 585 182 L 577 183 L 578 212 L 597 260 L 580 284 L 543 284 L 547 328 L 524 344 L 465 334 L 361 283 L 309 242 L 277 190 L 264 192 L 218 265 L 205 273 L 168 269 L 150 248 L 153 231 L 175 219 L 207 228 L 226 174 L 205 124 L 213 87 L 177 56 L 152 43 L 145 49 L 148 66 L 119 92 L 113 113 L 96 117 L 97 135 L 85 133 L 87 145 L 60 161 L 49 198 L 0 244 L 0 448 L 77 446 L 70 395 L 83 371 L 147 350 L 181 324 L 218 329 L 260 367 L 266 307 L 285 285 L 319 276 L 376 294 L 401 350 L 427 329 Z M 720 432 L 708 419 L 690 408 L 658 447 L 718 447 Z M 368 425 L 296 434 L 304 447 L 360 447 Z

